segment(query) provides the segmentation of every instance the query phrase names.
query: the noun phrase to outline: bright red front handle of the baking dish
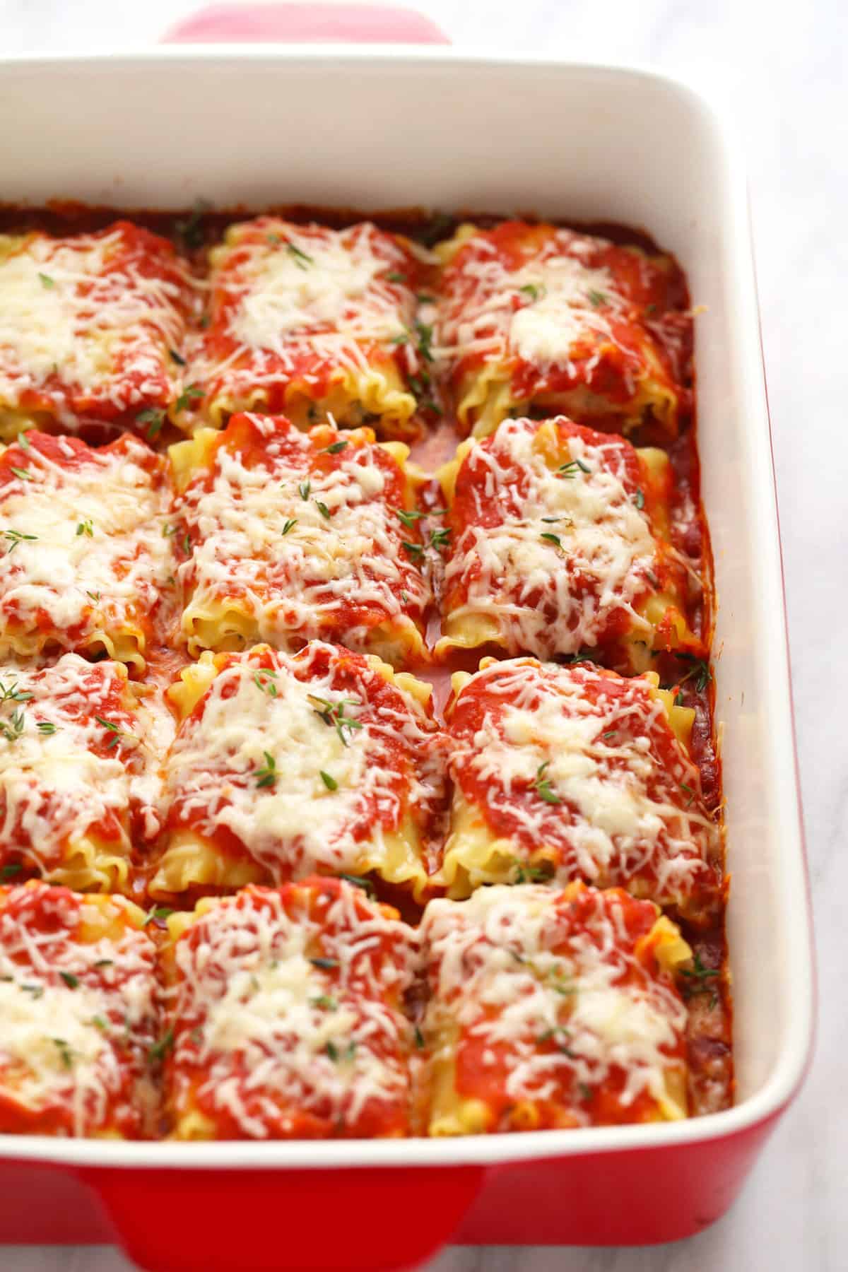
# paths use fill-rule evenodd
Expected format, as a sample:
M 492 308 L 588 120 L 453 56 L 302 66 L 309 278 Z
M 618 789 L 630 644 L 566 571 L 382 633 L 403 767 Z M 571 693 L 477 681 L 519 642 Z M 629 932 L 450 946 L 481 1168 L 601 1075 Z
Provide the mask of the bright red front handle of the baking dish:
M 146 1272 L 399 1272 L 450 1240 L 486 1168 L 79 1174 Z

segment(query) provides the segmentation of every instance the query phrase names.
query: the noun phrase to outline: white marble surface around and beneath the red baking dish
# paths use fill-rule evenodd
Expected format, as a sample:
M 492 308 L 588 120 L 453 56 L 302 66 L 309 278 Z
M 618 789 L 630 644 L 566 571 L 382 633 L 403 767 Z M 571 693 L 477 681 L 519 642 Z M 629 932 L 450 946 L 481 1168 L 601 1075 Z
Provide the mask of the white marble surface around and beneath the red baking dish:
M 200 0 L 0 0 L 0 53 L 154 42 Z M 844 901 L 848 757 L 848 28 L 839 0 L 418 0 L 455 43 L 631 60 L 708 76 L 751 182 L 821 1016 L 806 1089 L 732 1212 L 647 1250 L 448 1250 L 428 1272 L 837 1272 L 848 1267 Z M 6 125 L 8 126 L 8 125 Z M 825 544 L 828 544 L 825 547 Z M 5 1249 L 4 1272 L 120 1272 L 109 1249 Z M 249 1269 L 245 1269 L 249 1272 Z

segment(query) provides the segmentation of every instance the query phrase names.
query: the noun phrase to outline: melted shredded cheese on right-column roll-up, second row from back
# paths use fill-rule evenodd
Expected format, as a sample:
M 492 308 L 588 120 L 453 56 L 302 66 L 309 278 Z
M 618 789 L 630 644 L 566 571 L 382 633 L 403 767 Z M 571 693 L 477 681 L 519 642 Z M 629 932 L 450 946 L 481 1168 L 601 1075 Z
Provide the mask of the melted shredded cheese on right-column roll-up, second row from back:
M 530 420 L 506 420 L 464 460 L 488 473 L 472 487 L 479 520 L 463 530 L 445 570 L 448 590 L 465 597 L 451 623 L 491 614 L 515 650 L 543 658 L 594 647 L 622 609 L 632 627 L 648 631 L 634 600 L 648 586 L 656 543 L 622 481 L 620 443 L 570 438 L 563 476 L 534 446 L 538 430 Z M 498 491 L 510 511 L 491 525 Z

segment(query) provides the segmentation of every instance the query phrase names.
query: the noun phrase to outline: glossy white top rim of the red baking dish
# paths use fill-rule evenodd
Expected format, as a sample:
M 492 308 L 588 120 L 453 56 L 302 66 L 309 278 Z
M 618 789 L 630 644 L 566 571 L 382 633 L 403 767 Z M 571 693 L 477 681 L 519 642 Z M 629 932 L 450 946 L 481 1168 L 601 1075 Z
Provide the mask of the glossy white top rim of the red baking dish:
M 521 1131 L 450 1138 L 412 1137 L 403 1140 L 268 1140 L 197 1141 L 173 1140 L 74 1140 L 37 1135 L 0 1135 L 0 1160 L 31 1160 L 89 1168 L 139 1169 L 366 1169 L 374 1166 L 463 1166 L 498 1165 L 596 1152 L 683 1146 L 722 1140 L 751 1131 L 772 1121 L 797 1093 L 810 1063 L 814 1034 L 815 977 L 811 936 L 809 880 L 804 848 L 801 787 L 798 781 L 795 721 L 791 700 L 791 668 L 786 630 L 786 595 L 779 542 L 774 483 L 772 432 L 765 396 L 759 304 L 754 272 L 748 186 L 741 145 L 727 107 L 709 85 L 694 76 L 669 75 L 653 67 L 615 61 L 556 59 L 544 53 L 495 53 L 456 48 L 450 45 L 170 45 L 116 53 L 57 52 L 13 53 L 0 57 L 4 67 L 78 66 L 108 69 L 120 74 L 130 66 L 178 62 L 373 62 L 373 64 L 454 64 L 469 71 L 475 67 L 537 67 L 563 75 L 594 74 L 629 78 L 662 84 L 689 100 L 711 122 L 721 146 L 727 176 L 727 225 L 732 248 L 734 301 L 741 313 L 740 365 L 744 370 L 746 399 L 755 403 L 758 425 L 768 439 L 756 449 L 756 464 L 749 473 L 755 513 L 764 525 L 760 581 L 767 597 L 782 607 L 783 622 L 769 627 L 763 647 L 769 672 L 769 705 L 773 730 L 773 762 L 793 781 L 779 784 L 774 795 L 776 820 L 781 840 L 782 907 L 787 916 L 786 978 L 783 997 L 786 1028 L 772 1072 L 760 1089 L 721 1113 L 680 1122 L 653 1122 L 634 1126 L 581 1127 L 563 1131 Z M 773 533 L 772 533 L 773 530 Z M 774 612 L 774 611 L 773 611 Z

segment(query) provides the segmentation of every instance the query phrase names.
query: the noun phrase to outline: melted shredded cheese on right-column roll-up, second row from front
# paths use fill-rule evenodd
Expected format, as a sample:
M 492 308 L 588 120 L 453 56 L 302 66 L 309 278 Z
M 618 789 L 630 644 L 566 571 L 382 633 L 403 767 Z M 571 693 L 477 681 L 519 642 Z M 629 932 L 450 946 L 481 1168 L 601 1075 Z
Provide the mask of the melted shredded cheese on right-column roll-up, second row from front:
M 538 847 L 553 841 L 564 852 L 563 878 L 627 884 L 650 870 L 656 899 L 679 901 L 716 850 L 698 771 L 676 742 L 674 768 L 660 768 L 650 733 L 670 726 L 643 681 L 627 682 L 623 697 L 586 697 L 585 678 L 603 686 L 604 674 L 534 672 L 524 661 L 478 673 L 463 692 L 491 693 L 493 707 L 453 763 L 488 784 L 488 805 L 509 812 Z M 539 781 L 548 800 L 517 794 Z

